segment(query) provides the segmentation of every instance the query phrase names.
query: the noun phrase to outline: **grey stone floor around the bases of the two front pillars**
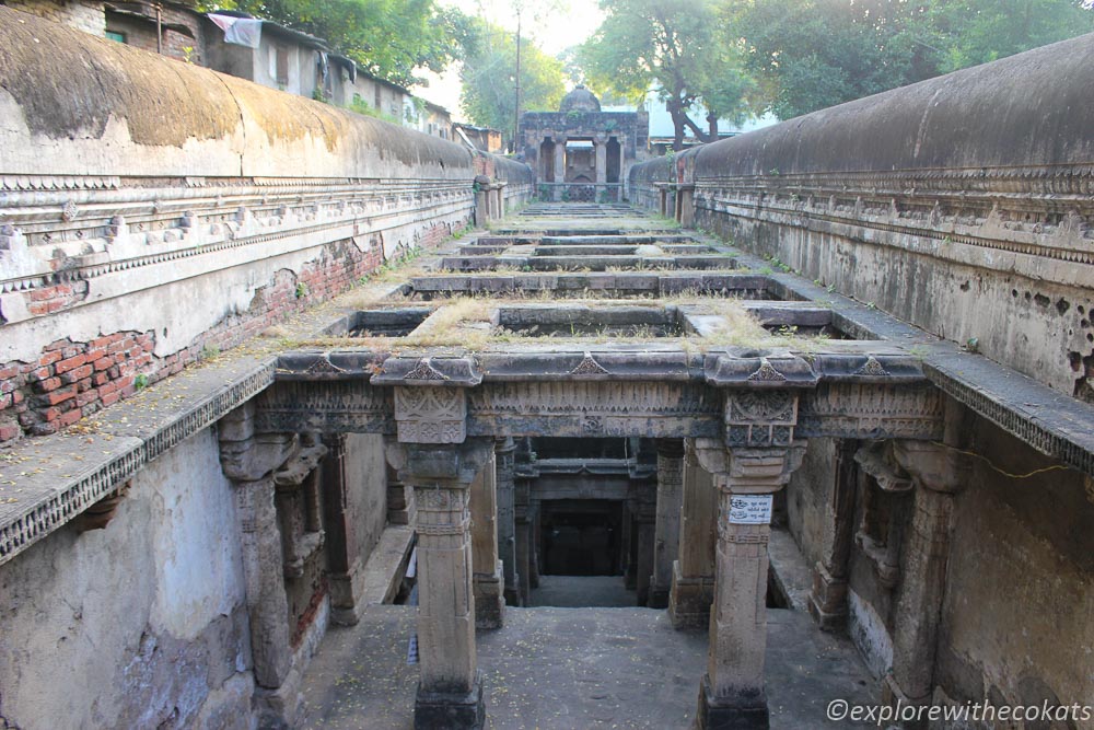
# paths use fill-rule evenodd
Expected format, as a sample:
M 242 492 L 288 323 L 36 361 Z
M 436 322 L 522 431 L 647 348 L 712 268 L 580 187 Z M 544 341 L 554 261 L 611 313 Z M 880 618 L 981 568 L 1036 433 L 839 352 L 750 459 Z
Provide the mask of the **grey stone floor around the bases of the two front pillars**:
M 375 605 L 357 626 L 331 627 L 305 679 L 303 727 L 412 727 L 414 611 Z M 829 700 L 875 702 L 849 641 L 817 631 L 801 612 L 769 610 L 768 621 L 771 728 L 836 727 L 824 717 Z M 706 657 L 706 631 L 675 631 L 664 611 L 508 609 L 504 628 L 478 635 L 487 727 L 688 728 Z

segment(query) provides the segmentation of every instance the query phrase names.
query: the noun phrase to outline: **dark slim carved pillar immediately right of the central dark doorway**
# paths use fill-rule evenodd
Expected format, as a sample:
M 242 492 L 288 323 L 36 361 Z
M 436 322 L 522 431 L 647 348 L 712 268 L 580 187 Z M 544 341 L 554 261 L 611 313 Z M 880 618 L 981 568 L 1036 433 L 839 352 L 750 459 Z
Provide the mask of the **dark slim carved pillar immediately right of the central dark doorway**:
M 680 505 L 684 483 L 684 442 L 657 440 L 657 512 L 653 544 L 653 575 L 650 577 L 651 609 L 668 606 L 673 564 L 679 551 Z

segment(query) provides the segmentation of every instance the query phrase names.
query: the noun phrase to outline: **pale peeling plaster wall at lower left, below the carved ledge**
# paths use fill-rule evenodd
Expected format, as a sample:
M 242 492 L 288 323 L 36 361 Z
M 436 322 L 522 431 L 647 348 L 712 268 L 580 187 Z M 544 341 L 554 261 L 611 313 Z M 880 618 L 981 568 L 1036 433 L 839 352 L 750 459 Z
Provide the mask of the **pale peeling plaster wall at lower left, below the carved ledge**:
M 105 530 L 0 566 L 0 725 L 248 727 L 243 586 L 206 429 L 139 472 Z

